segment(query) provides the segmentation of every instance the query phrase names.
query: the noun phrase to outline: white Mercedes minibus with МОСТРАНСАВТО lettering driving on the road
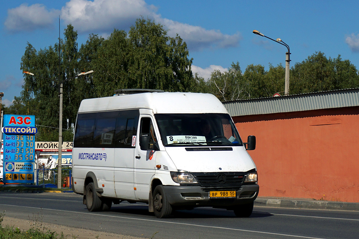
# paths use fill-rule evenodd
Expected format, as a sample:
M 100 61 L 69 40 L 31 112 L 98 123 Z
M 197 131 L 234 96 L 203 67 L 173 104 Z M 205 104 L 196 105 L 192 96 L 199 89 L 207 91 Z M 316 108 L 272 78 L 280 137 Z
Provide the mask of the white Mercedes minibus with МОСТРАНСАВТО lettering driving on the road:
M 89 211 L 145 202 L 157 218 L 214 207 L 248 217 L 257 168 L 223 104 L 211 94 L 117 90 L 80 104 L 72 189 Z

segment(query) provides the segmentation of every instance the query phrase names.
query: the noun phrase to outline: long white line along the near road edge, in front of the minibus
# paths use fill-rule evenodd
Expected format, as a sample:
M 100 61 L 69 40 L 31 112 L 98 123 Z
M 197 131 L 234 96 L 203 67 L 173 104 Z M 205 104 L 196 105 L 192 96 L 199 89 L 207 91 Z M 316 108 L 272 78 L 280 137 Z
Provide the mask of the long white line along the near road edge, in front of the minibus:
M 32 208 L 32 209 L 41 209 L 41 210 L 51 210 L 51 211 L 61 211 L 61 212 L 70 212 L 70 213 L 81 213 L 81 214 L 88 214 L 92 216 L 105 216 L 111 218 L 122 218 L 122 219 L 130 219 L 130 220 L 140 220 L 140 221 L 151 221 L 151 222 L 158 222 L 158 223 L 170 223 L 170 224 L 179 224 L 179 225 L 187 225 L 187 226 L 197 226 L 197 227 L 204 227 L 204 228 L 217 228 L 217 229 L 225 229 L 225 230 L 234 230 L 234 231 L 245 231 L 245 232 L 253 232 L 253 233 L 262 233 L 262 234 L 270 234 L 270 235 L 279 235 L 279 236 L 291 236 L 297 238 L 309 238 L 309 239 L 325 239 L 325 238 L 317 238 L 317 237 L 309 237 L 309 236 L 297 236 L 297 235 L 289 235 L 289 234 L 281 234 L 281 233 L 270 233 L 266 231 L 253 231 L 253 230 L 244 230 L 244 229 L 236 229 L 236 228 L 224 228 L 221 226 L 206 226 L 206 225 L 198 225 L 198 224 L 190 224 L 190 223 L 176 223 L 171 221 L 159 221 L 159 220 L 149 220 L 149 219 L 141 219 L 141 218 L 128 218 L 123 216 L 113 216 L 113 215 L 104 215 L 104 214 L 94 214 L 89 212 L 74 212 L 74 211 L 65 211 L 59 209 L 49 209 L 49 208 L 41 208 L 41 207 L 27 207 L 27 206 L 18 206 L 18 205 L 9 205 L 9 204 L 0 204 L 3 206 L 14 206 L 14 207 L 25 207 L 25 208 Z

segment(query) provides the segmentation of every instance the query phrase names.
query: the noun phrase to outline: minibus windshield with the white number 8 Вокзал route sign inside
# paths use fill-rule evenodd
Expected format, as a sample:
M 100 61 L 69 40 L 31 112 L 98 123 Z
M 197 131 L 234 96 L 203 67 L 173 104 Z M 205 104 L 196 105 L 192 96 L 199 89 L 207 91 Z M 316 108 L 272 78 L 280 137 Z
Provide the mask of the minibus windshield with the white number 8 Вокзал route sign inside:
M 242 146 L 228 114 L 155 114 L 163 144 L 183 146 Z

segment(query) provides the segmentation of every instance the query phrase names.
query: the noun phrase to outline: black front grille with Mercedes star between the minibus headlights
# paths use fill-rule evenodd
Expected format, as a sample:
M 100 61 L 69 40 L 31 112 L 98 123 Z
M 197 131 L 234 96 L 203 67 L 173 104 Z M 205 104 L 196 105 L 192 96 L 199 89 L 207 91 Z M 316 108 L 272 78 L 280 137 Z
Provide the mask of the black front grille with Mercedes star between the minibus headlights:
M 243 184 L 244 172 L 193 173 L 201 186 L 239 186 Z

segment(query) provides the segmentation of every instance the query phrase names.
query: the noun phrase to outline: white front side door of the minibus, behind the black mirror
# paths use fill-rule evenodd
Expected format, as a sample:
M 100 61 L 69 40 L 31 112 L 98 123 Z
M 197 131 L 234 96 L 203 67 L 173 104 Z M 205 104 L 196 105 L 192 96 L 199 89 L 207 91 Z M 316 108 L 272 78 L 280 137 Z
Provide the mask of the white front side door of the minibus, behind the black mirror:
M 155 174 L 156 152 L 153 150 L 153 145 L 157 142 L 157 137 L 153 122 L 154 121 L 151 115 L 140 116 L 140 129 L 137 133 L 136 152 L 134 158 L 136 199 L 149 199 L 150 180 Z M 141 141 L 141 136 L 143 135 L 148 135 L 149 137 L 149 144 L 147 144 L 149 145 L 147 147 L 150 148 L 149 150 L 141 149 L 141 145 L 144 145 L 144 142 Z

